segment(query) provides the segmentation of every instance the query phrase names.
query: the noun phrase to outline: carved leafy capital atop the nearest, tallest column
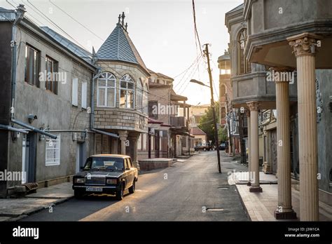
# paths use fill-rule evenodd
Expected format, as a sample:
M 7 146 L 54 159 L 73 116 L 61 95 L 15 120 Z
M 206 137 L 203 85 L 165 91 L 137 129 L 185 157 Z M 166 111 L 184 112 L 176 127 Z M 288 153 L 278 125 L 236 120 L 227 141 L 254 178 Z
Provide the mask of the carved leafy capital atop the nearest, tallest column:
M 305 32 L 296 36 L 287 38 L 289 45 L 293 48 L 293 53 L 296 57 L 301 55 L 315 55 L 317 52 L 317 41 L 321 39 L 321 36 Z

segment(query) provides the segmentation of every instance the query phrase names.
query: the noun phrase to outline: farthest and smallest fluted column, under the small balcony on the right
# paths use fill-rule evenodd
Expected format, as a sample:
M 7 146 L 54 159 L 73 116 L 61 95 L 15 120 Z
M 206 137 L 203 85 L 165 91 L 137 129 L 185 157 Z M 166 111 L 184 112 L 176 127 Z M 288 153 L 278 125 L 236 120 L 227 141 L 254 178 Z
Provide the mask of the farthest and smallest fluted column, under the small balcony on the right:
M 259 186 L 258 102 L 247 102 L 250 109 L 250 152 L 253 179 L 250 192 L 262 192 Z

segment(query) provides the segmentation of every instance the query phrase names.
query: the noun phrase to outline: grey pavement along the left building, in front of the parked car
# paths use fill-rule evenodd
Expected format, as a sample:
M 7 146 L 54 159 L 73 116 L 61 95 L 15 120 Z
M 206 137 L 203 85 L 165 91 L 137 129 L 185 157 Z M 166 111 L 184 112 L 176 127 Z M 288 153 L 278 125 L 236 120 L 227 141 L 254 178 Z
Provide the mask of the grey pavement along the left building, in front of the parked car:
M 16 221 L 34 212 L 57 205 L 74 196 L 72 183 L 38 189 L 22 198 L 0 198 L 0 221 Z

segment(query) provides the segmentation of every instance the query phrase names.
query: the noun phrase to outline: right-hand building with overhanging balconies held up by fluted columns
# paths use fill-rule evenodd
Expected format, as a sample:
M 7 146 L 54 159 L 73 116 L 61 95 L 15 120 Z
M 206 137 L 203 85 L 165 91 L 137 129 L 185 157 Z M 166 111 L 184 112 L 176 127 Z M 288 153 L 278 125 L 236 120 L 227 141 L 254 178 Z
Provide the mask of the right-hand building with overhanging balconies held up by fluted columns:
M 300 190 L 303 221 L 319 220 L 319 200 L 332 202 L 331 155 L 326 151 L 331 148 L 331 7 L 324 0 L 247 0 L 226 13 L 232 77 L 237 74 L 233 102 L 250 111 L 251 190 L 261 191 L 258 135 L 259 129 L 268 130 L 267 140 L 277 144 L 269 149 L 275 143 L 263 143 L 268 145 L 265 160 L 274 161 L 267 162 L 272 172 L 273 164 L 277 168 L 277 219 L 296 217 L 292 184 Z

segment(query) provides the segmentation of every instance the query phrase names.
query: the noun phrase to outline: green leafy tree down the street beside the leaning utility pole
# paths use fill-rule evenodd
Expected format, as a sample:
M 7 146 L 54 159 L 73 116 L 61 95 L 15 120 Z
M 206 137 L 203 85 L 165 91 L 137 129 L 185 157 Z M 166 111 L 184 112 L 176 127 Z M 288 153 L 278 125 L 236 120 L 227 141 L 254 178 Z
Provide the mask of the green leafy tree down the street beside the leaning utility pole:
M 217 123 L 219 122 L 219 102 L 214 102 L 214 106 L 216 108 L 216 120 Z M 200 121 L 198 124 L 198 128 L 203 130 L 207 133 L 207 142 L 210 140 L 212 144 L 214 144 L 214 121 L 213 121 L 213 114 L 212 114 L 212 107 L 209 107 L 205 110 L 205 114 L 200 117 Z

